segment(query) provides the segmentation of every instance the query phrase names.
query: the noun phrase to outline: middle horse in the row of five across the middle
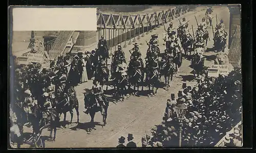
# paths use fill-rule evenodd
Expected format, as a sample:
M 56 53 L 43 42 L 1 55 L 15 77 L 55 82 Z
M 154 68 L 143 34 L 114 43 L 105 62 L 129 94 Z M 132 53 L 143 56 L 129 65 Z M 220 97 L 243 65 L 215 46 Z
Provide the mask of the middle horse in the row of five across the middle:
M 129 68 L 128 68 L 128 76 L 129 76 L 129 89 L 131 89 L 131 85 L 134 86 L 134 91 L 132 92 L 133 94 L 138 95 L 139 91 L 139 83 L 142 83 L 144 80 L 144 72 L 142 68 L 144 67 L 144 64 L 142 61 L 139 60 L 131 60 L 129 63 Z

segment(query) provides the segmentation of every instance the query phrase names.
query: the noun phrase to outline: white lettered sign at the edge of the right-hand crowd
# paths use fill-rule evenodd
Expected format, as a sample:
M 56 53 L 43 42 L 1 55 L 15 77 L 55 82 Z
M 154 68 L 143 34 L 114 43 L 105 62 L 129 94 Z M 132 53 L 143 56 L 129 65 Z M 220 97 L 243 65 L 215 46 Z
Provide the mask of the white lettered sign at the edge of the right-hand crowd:
M 228 73 L 228 65 L 211 65 L 208 68 L 208 77 L 219 77 L 219 74 L 227 75 Z

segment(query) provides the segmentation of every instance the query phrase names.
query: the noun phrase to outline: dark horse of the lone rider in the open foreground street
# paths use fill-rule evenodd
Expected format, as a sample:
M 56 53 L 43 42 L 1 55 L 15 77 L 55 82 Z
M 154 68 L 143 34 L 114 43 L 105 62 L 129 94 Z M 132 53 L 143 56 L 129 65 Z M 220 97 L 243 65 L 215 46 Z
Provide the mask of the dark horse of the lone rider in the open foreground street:
M 108 116 L 108 108 L 109 108 L 109 99 L 105 95 L 99 95 L 102 96 L 104 105 L 104 113 L 103 116 L 103 123 L 106 124 L 106 117 Z M 94 122 L 94 116 L 96 112 L 100 111 L 100 107 L 96 105 L 96 96 L 89 92 L 88 94 L 84 95 L 84 108 L 89 109 L 89 114 L 91 116 L 91 122 Z

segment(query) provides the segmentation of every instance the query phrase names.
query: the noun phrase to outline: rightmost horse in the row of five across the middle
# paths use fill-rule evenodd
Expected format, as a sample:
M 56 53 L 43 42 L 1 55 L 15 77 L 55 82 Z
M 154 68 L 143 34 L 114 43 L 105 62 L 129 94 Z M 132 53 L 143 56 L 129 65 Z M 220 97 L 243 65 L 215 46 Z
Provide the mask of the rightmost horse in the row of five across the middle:
M 171 57 L 166 57 L 167 60 L 162 63 L 160 68 L 160 78 L 164 75 L 165 79 L 165 87 L 168 89 L 171 85 L 169 85 L 169 80 L 173 81 L 173 74 L 174 74 L 174 65 Z

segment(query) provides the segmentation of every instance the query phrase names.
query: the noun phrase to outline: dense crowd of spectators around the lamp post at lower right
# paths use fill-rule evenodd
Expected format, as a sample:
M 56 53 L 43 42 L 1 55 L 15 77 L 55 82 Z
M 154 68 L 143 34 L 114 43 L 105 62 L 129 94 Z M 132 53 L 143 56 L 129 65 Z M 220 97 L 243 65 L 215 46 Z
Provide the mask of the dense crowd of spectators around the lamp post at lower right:
M 193 88 L 184 83 L 178 98 L 171 96 L 172 99 L 167 100 L 164 123 L 157 126 L 152 135 L 142 137 L 142 147 L 179 146 L 177 104 L 187 107 L 181 132 L 182 147 L 215 146 L 242 119 L 241 79 L 241 69 L 234 69 L 215 80 L 202 74 Z M 225 138 L 227 146 L 242 144 L 242 125 L 234 131 Z

